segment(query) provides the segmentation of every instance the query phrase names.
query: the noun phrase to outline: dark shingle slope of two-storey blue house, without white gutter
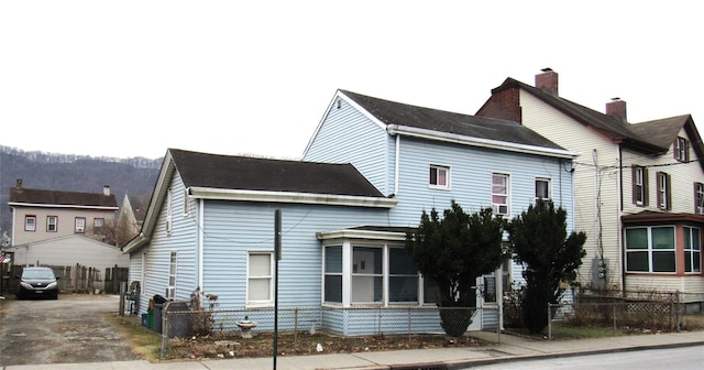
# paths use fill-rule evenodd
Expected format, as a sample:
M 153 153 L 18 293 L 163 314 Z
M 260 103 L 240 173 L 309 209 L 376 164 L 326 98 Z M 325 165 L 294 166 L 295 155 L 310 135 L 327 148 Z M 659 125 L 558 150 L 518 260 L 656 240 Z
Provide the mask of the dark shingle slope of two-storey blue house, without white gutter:
M 406 126 L 524 145 L 562 149 L 518 122 L 410 106 L 348 90 L 340 91 L 385 124 Z

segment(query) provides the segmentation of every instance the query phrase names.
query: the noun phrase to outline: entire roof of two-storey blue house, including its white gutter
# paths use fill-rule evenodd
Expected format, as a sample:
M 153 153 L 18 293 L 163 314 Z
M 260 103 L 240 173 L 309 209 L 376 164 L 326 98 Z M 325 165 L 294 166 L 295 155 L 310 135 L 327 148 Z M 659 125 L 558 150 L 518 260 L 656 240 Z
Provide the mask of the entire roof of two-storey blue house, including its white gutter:
M 463 139 L 464 143 L 502 150 L 510 150 L 510 144 L 515 144 L 515 149 L 540 148 L 552 154 L 573 156 L 560 145 L 515 121 L 411 106 L 349 90 L 339 90 L 339 94 L 384 124 L 389 133 L 422 133 L 436 140 L 449 139 L 449 135 L 471 138 Z

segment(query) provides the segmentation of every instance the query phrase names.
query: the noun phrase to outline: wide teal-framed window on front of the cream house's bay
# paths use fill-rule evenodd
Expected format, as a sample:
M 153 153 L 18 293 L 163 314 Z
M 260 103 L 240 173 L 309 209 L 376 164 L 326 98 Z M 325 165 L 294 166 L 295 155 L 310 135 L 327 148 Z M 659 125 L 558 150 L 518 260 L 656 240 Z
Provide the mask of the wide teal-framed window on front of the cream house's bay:
M 628 272 L 675 272 L 674 227 L 626 229 Z

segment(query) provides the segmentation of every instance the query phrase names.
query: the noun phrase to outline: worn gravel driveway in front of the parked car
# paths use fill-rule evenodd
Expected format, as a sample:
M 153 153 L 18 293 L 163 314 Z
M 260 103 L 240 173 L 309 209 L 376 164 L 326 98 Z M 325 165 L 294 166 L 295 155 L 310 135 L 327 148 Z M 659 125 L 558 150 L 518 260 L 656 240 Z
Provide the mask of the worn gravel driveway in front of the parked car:
M 105 316 L 116 295 L 61 295 L 58 301 L 0 301 L 0 366 L 139 359 Z

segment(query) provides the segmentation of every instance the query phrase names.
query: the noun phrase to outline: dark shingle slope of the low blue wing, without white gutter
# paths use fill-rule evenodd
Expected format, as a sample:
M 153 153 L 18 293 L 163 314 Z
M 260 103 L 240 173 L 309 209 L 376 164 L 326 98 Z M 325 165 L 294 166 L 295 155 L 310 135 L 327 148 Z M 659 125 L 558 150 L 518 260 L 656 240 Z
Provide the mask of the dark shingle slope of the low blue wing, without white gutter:
M 349 163 L 169 152 L 186 187 L 384 197 Z

